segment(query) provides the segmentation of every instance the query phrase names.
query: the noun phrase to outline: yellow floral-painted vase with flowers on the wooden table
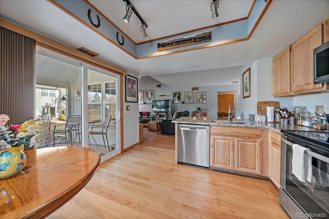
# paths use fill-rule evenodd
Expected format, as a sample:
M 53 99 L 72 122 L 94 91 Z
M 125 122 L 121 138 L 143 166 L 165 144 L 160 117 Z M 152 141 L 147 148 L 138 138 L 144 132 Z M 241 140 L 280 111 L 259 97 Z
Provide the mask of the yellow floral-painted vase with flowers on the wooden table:
M 26 121 L 22 125 L 6 125 L 9 116 L 0 114 L 0 179 L 19 173 L 26 164 L 24 145 L 35 142 L 35 122 Z

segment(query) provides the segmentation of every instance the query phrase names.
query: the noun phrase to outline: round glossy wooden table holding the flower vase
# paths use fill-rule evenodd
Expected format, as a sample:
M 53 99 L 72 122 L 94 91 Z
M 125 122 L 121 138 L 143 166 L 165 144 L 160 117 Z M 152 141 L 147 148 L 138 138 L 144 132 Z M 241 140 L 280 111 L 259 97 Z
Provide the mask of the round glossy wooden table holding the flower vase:
M 100 155 L 80 146 L 24 152 L 20 173 L 0 180 L 0 218 L 44 218 L 74 197 L 93 177 Z

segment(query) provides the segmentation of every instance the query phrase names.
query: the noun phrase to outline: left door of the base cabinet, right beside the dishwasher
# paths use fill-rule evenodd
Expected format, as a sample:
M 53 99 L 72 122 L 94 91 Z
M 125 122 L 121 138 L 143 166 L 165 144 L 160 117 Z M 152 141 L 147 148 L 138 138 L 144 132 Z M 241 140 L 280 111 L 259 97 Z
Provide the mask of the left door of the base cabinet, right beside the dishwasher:
M 211 136 L 210 166 L 234 169 L 234 138 Z

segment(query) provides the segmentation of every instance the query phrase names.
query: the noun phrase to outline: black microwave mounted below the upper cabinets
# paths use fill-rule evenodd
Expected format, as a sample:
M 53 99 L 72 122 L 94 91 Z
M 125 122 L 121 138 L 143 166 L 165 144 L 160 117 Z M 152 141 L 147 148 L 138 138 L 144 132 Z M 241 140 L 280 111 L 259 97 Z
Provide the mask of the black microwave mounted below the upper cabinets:
M 329 82 L 329 42 L 314 49 L 314 84 Z

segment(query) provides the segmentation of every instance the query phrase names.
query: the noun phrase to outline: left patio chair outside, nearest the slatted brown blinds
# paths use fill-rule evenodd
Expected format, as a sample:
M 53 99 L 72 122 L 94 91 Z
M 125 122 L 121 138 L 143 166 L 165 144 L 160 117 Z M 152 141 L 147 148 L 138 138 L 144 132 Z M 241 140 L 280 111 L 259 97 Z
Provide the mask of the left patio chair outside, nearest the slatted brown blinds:
M 80 115 L 69 115 L 67 116 L 67 120 L 65 123 L 64 129 L 56 129 L 58 125 L 54 125 L 52 130 L 52 137 L 53 137 L 53 147 L 55 147 L 56 141 L 55 137 L 65 137 L 66 144 L 73 145 L 77 139 L 77 136 L 79 136 L 79 143 L 80 142 L 80 124 L 81 124 L 81 116 Z M 76 133 L 75 140 L 73 140 L 72 132 Z M 63 143 L 60 143 L 63 144 Z

